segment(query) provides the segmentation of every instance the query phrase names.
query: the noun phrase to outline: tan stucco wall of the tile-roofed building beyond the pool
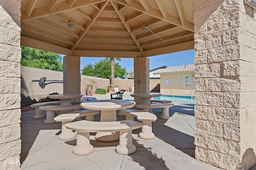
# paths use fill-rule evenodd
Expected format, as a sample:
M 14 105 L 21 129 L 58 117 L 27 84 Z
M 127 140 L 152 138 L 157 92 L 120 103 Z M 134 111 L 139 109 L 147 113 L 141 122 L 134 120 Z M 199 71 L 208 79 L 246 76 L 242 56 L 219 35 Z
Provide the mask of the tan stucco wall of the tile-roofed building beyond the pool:
M 191 95 L 195 89 L 195 72 L 161 74 L 161 94 Z

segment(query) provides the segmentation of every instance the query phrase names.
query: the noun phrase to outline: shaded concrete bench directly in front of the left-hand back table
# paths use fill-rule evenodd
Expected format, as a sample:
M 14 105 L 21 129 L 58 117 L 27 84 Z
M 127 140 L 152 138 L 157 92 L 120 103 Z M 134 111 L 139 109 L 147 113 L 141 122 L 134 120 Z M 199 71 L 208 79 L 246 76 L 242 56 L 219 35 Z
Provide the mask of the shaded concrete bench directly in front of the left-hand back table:
M 80 104 L 76 105 L 68 105 L 68 106 L 42 106 L 39 107 L 40 110 L 46 111 L 46 120 L 44 123 L 55 123 L 54 120 L 54 112 L 55 111 L 66 111 L 66 110 L 72 110 L 72 111 L 79 111 L 83 107 Z

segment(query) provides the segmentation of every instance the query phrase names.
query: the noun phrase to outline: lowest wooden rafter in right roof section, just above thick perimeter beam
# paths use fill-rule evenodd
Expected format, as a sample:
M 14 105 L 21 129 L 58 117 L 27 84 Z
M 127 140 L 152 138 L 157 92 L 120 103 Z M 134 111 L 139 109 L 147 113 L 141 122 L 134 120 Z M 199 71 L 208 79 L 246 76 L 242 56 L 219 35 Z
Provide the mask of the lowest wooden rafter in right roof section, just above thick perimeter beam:
M 159 37 L 156 37 L 156 39 L 154 39 L 152 41 L 147 41 L 145 43 L 141 43 L 140 45 L 141 45 L 141 47 L 153 46 L 153 45 L 156 45 L 156 44 L 164 43 L 166 41 L 171 41 L 171 40 L 174 40 L 174 39 L 177 39 L 177 38 L 181 38 L 181 37 L 185 37 L 185 36 L 193 35 L 193 34 L 194 33 L 191 32 L 191 31 L 183 31 L 183 32 L 180 32 L 180 33 L 176 33 L 176 34 L 173 34 L 173 35 L 168 35 L 166 37 L 162 37 L 161 39 Z

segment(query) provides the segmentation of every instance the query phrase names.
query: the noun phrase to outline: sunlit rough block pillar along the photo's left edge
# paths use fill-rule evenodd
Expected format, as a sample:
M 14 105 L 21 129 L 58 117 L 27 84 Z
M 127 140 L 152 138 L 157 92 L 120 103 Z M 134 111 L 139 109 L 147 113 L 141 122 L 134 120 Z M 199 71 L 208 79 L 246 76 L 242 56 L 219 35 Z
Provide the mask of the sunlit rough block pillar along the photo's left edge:
M 20 169 L 20 0 L 0 1 L 0 169 Z

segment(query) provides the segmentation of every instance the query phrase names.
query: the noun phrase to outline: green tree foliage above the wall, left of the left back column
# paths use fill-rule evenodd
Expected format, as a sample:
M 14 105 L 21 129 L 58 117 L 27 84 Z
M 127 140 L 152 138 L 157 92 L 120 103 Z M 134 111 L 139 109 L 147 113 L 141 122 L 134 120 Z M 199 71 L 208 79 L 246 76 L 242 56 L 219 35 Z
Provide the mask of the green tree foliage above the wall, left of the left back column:
M 62 57 L 57 53 L 21 46 L 22 66 L 62 71 Z

